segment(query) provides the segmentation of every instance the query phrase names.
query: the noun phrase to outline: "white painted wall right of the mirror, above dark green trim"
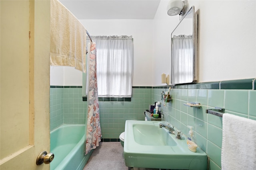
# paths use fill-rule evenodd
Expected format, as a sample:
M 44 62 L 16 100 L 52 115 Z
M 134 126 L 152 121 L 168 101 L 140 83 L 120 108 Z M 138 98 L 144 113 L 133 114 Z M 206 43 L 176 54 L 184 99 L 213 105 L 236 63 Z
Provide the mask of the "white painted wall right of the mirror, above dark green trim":
M 200 9 L 199 80 L 255 78 L 256 1 L 193 4 Z

